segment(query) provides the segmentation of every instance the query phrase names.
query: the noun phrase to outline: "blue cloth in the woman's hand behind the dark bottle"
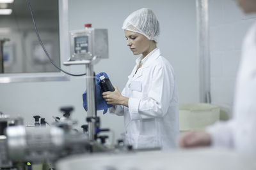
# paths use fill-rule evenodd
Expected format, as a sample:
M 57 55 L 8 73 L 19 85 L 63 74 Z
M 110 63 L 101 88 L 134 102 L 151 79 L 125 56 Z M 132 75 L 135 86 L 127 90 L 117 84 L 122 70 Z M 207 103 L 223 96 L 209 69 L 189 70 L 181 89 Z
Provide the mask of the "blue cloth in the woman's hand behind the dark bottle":
M 96 89 L 96 104 L 97 104 L 97 110 L 104 110 L 103 114 L 107 113 L 108 108 L 112 107 L 112 104 L 107 104 L 105 99 L 102 97 L 102 89 L 100 87 L 100 76 L 105 76 L 105 78 L 108 78 L 108 75 L 104 72 L 101 72 L 97 75 L 95 75 L 95 89 Z M 84 110 L 87 111 L 87 90 L 83 93 L 83 106 Z

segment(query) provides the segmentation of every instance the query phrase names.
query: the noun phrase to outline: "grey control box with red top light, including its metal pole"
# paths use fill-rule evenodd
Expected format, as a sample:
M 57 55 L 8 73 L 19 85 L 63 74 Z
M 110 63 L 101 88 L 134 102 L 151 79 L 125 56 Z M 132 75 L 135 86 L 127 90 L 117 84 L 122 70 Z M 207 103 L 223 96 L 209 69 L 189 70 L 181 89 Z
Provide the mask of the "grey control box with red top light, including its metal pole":
M 86 88 L 88 106 L 88 134 L 89 140 L 95 140 L 95 124 L 97 124 L 97 110 L 95 103 L 95 73 L 93 64 L 99 59 L 108 58 L 108 31 L 94 29 L 92 24 L 85 24 L 85 29 L 70 31 L 70 59 L 65 65 L 83 64 L 86 67 Z M 104 141 L 104 139 L 102 139 Z

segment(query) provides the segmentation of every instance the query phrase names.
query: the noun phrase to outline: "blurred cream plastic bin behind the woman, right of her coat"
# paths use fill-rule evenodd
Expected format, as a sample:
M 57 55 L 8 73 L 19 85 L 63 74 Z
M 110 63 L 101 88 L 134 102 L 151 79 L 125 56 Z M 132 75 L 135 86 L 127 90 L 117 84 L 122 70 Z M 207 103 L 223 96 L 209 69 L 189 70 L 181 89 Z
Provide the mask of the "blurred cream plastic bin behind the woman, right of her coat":
M 220 120 L 220 107 L 207 103 L 180 104 L 180 132 L 201 130 Z

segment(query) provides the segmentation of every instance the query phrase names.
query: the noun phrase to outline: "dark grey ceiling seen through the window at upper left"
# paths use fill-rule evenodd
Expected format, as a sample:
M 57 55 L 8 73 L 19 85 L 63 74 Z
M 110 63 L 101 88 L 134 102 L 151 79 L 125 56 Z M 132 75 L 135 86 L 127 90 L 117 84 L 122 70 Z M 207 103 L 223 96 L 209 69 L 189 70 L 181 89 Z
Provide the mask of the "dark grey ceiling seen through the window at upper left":
M 58 0 L 29 1 L 36 24 L 40 29 L 56 29 L 59 27 Z M 27 0 L 14 0 L 12 4 L 8 4 L 8 8 L 12 9 L 13 12 L 11 15 L 0 15 L 0 29 L 5 27 L 11 28 L 13 31 L 34 29 Z

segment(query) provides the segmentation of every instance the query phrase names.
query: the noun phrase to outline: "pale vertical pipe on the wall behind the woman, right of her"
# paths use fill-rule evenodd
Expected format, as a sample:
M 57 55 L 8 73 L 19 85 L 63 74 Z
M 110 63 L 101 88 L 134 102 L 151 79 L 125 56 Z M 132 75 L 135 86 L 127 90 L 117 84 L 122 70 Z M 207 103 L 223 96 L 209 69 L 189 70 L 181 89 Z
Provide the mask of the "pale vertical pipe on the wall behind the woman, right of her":
M 211 103 L 208 0 L 196 0 L 200 102 Z

